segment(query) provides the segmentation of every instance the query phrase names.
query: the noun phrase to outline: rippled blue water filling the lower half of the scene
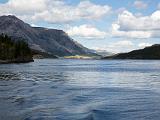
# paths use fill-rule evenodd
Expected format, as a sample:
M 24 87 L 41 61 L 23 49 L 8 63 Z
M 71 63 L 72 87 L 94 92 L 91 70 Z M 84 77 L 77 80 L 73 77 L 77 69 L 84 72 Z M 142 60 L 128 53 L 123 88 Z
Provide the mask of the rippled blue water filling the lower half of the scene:
M 160 61 L 0 65 L 0 120 L 160 120 Z

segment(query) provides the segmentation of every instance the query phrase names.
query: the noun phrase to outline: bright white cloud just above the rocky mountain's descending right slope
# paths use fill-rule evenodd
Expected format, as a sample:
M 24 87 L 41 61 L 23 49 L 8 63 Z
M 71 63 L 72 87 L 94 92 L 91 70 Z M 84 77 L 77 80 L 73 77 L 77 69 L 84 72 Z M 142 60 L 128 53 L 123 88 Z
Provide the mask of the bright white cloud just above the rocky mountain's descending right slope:
M 66 31 L 70 36 L 76 36 L 86 39 L 103 39 L 106 37 L 106 32 L 100 31 L 91 25 L 81 25 L 69 28 Z

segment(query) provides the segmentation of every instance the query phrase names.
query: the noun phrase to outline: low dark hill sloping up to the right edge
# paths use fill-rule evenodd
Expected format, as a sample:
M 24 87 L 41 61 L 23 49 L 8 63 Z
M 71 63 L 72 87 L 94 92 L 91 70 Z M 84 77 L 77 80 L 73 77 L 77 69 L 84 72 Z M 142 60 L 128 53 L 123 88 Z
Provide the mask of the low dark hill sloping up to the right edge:
M 104 59 L 160 59 L 160 44 L 140 50 L 134 50 L 129 53 L 120 53 L 117 55 L 104 57 Z

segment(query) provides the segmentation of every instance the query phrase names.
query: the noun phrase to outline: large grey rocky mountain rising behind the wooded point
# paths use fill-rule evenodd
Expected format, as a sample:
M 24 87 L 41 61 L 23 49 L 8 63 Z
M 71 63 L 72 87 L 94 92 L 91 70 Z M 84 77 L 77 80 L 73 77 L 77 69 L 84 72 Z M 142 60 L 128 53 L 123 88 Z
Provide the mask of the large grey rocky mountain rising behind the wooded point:
M 57 56 L 90 55 L 89 49 L 70 38 L 63 30 L 31 27 L 15 16 L 0 17 L 0 34 L 25 40 L 31 49 Z

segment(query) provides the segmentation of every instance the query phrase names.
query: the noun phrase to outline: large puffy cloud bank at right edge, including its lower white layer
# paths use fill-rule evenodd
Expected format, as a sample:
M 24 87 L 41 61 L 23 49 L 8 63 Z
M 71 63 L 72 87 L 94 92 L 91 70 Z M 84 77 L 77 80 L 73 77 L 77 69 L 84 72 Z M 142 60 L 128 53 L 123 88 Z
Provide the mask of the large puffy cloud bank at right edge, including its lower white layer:
M 128 38 L 160 37 L 160 11 L 157 10 L 149 16 L 136 16 L 124 11 L 112 24 L 112 35 Z

